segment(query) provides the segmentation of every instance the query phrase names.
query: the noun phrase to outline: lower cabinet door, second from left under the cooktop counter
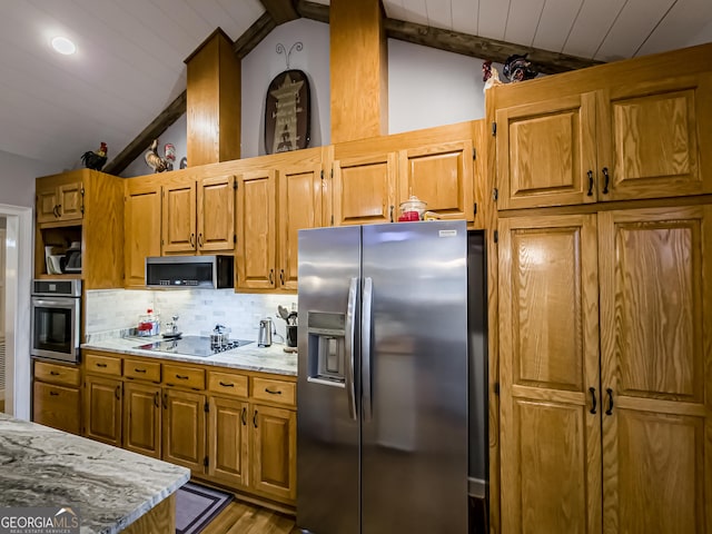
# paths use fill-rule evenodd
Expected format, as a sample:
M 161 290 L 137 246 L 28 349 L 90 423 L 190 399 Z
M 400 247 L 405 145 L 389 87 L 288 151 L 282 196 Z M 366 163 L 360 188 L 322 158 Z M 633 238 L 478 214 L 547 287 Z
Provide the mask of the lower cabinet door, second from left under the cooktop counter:
M 160 387 L 123 384 L 123 448 L 160 459 Z

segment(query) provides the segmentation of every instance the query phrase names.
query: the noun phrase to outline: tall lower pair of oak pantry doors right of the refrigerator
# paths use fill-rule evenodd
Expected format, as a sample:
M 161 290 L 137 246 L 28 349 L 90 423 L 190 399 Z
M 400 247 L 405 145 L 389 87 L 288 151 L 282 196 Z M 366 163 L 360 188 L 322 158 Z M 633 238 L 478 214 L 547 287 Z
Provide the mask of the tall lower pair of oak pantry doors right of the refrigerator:
M 502 532 L 712 533 L 712 206 L 500 236 Z

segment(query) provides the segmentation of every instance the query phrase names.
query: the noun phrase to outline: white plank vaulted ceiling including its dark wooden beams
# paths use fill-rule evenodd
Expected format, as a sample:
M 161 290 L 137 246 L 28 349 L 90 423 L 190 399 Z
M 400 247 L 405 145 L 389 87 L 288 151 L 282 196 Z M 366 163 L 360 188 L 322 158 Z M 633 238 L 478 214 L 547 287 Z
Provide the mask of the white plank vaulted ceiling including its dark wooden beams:
M 528 51 L 543 71 L 555 72 L 712 41 L 709 2 L 383 3 L 392 38 L 495 61 Z M 0 150 L 72 168 L 79 166 L 80 154 L 105 140 L 109 158 L 116 160 L 112 171 L 119 172 L 134 154 L 145 150 L 146 139 L 185 110 L 184 60 L 215 28 L 235 39 L 236 53 L 244 57 L 277 24 L 295 17 L 328 21 L 328 3 L 2 0 Z M 79 53 L 50 52 L 48 42 L 58 33 L 75 39 Z

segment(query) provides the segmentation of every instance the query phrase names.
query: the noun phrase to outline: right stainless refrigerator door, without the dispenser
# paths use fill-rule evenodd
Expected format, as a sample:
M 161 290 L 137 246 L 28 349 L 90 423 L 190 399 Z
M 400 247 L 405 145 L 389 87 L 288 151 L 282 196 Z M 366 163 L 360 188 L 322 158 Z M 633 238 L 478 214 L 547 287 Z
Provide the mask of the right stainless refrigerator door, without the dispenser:
M 363 229 L 364 534 L 467 532 L 466 253 L 464 221 Z

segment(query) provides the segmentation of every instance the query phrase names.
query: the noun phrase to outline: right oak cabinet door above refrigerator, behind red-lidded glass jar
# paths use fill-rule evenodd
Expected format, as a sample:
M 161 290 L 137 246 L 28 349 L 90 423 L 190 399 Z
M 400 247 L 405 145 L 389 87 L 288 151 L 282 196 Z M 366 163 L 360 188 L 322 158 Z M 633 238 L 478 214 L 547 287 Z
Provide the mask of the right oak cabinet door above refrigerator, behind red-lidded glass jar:
M 398 202 L 412 195 L 443 219 L 475 220 L 472 140 L 400 152 Z

